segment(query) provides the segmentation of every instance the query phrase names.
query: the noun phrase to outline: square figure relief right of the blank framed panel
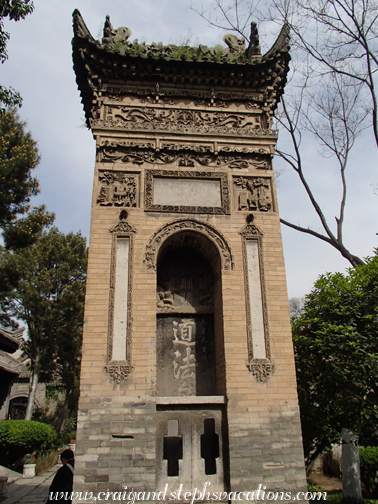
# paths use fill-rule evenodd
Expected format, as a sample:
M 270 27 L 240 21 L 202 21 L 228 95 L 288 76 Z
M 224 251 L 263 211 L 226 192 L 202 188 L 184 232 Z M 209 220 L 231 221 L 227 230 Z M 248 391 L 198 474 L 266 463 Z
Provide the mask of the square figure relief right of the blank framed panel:
M 262 177 L 234 179 L 235 201 L 240 211 L 272 211 L 271 181 Z

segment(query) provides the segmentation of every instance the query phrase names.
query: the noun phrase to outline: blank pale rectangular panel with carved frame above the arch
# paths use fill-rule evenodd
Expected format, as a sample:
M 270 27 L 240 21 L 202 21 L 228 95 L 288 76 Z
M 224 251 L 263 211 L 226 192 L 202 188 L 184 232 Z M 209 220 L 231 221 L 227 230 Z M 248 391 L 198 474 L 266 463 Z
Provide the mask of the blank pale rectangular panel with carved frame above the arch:
M 228 214 L 227 175 L 214 172 L 146 170 L 145 210 Z

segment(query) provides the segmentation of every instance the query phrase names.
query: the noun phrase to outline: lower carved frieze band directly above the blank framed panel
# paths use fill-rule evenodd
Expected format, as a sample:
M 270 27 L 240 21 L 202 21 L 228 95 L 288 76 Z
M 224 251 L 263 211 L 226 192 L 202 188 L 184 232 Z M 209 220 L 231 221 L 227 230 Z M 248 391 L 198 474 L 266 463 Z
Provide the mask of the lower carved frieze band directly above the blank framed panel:
M 143 165 L 167 165 L 176 164 L 193 168 L 196 166 L 222 167 L 231 169 L 263 168 L 270 166 L 270 156 L 264 149 L 250 149 L 247 147 L 235 148 L 223 147 L 220 150 L 225 154 L 211 152 L 210 146 L 163 143 L 161 150 L 145 149 L 141 144 L 138 148 L 125 145 L 133 142 L 109 142 L 105 141 L 98 148 L 98 160 L 104 163 L 133 163 Z M 149 144 L 151 145 L 151 144 Z M 107 181 L 105 181 L 107 182 Z

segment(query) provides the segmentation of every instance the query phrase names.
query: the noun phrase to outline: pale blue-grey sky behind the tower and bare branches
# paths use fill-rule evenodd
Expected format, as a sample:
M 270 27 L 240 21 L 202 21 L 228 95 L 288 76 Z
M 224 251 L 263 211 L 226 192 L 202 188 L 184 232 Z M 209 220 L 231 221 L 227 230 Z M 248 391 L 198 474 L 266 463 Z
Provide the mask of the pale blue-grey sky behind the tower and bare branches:
M 44 203 L 55 212 L 61 231 L 81 231 L 89 238 L 95 161 L 95 142 L 84 123 L 72 69 L 72 12 L 80 10 L 96 39 L 102 37 L 105 16 L 109 14 L 114 28 L 131 28 L 131 40 L 179 44 L 190 37 L 193 45 L 222 43 L 225 32 L 209 27 L 189 4 L 190 0 L 34 0 L 35 10 L 25 20 L 5 21 L 5 29 L 10 32 L 9 59 L 0 67 L 0 82 L 21 93 L 19 114 L 38 141 L 41 154 L 35 170 L 41 193 L 32 204 Z M 211 9 L 210 0 L 195 5 L 201 4 Z M 266 40 L 271 43 L 271 38 Z M 262 31 L 260 42 L 264 46 Z M 284 148 L 285 135 L 279 142 Z M 318 154 L 316 143 L 308 142 L 303 147 L 306 176 L 334 226 L 341 194 L 339 173 L 330 160 Z M 279 159 L 274 165 L 279 171 L 284 168 Z M 353 254 L 367 257 L 378 246 L 377 150 L 368 130 L 353 148 L 347 181 L 345 245 Z M 320 232 L 320 223 L 295 173 L 285 168 L 277 185 L 281 217 Z M 350 266 L 337 250 L 317 238 L 285 226 L 282 236 L 289 297 L 310 292 L 320 274 L 345 272 Z

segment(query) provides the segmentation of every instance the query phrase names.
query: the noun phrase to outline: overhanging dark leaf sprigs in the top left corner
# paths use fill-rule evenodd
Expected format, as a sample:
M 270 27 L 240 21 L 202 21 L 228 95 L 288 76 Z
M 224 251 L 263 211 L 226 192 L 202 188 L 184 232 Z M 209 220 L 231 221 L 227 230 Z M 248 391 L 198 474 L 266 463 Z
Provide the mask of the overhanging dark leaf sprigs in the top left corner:
M 13 21 L 25 19 L 25 17 L 33 12 L 34 6 L 31 0 L 0 0 L 0 62 L 8 58 L 7 43 L 9 33 L 4 30 L 4 19 L 8 18 Z M 6 88 L 0 85 L 0 104 L 6 107 L 21 106 L 22 98 L 18 91 L 13 88 Z M 5 108 L 1 108 L 0 112 L 4 113 Z

